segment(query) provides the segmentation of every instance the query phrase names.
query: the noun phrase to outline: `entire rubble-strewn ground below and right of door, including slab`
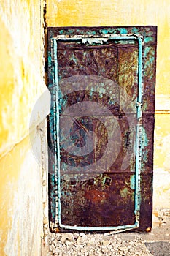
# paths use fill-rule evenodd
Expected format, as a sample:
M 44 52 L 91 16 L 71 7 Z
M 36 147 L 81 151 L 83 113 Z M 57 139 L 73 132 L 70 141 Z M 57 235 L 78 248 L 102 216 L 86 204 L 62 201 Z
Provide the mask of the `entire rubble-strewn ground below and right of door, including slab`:
M 170 256 L 170 210 L 153 217 L 150 233 L 50 233 L 50 255 Z

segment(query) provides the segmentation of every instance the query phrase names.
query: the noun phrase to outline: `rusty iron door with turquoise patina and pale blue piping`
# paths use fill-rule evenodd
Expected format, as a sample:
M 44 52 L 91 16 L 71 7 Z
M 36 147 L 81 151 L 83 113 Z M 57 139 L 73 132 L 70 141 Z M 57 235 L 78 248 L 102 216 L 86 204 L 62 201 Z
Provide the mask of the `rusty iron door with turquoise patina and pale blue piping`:
M 152 227 L 156 27 L 50 28 L 50 221 Z

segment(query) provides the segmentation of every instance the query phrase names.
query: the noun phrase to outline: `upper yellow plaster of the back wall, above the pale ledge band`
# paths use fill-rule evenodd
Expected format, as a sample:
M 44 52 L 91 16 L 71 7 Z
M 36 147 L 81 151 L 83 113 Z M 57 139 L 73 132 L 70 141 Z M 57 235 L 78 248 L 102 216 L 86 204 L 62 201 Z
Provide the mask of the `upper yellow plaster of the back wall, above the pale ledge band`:
M 170 95 L 169 0 L 47 1 L 47 26 L 158 26 L 157 96 Z

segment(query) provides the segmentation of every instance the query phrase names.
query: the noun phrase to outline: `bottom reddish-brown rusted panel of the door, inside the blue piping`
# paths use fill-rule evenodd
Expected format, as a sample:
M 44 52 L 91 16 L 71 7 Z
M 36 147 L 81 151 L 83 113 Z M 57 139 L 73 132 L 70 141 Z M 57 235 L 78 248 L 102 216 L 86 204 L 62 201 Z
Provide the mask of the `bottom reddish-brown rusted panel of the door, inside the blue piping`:
M 63 225 L 133 225 L 134 174 L 104 173 L 90 178 L 61 176 L 61 222 Z M 72 213 L 72 214 L 71 214 Z

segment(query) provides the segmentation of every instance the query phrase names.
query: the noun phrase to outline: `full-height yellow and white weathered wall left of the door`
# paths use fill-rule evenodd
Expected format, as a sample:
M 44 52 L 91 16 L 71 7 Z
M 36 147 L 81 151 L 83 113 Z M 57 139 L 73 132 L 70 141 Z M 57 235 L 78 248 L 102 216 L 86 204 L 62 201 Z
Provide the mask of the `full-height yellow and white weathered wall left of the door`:
M 42 142 L 36 100 L 43 82 L 43 1 L 0 3 L 0 255 L 40 255 Z M 43 105 L 42 105 L 43 107 Z M 30 138 L 32 138 L 30 143 Z M 34 150 L 33 150 L 34 147 Z M 36 155 L 36 158 L 34 156 Z

